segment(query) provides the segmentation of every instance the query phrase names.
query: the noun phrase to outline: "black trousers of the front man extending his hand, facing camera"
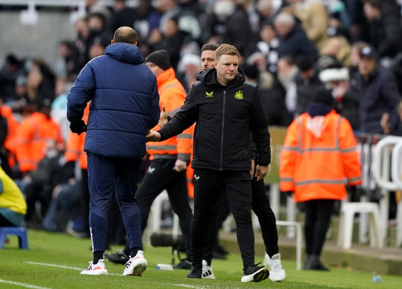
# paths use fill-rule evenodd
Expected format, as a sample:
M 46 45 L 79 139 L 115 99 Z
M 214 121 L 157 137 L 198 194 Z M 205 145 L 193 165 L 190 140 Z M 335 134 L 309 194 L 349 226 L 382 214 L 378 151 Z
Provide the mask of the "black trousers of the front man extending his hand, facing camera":
M 208 226 L 216 220 L 214 207 L 225 190 L 236 221 L 237 242 L 244 267 L 254 264 L 254 232 L 251 221 L 251 182 L 247 171 L 214 171 L 194 169 L 194 215 L 191 221 L 193 266 L 202 266 Z

